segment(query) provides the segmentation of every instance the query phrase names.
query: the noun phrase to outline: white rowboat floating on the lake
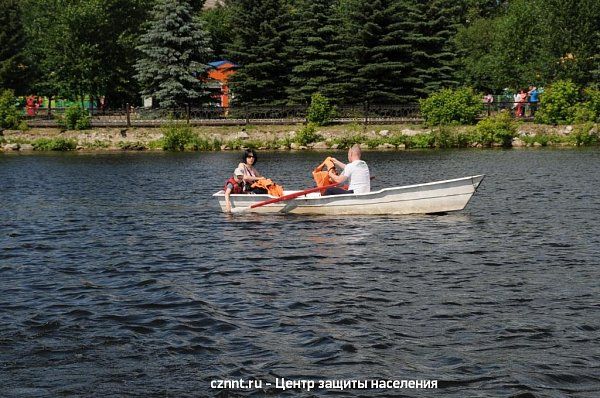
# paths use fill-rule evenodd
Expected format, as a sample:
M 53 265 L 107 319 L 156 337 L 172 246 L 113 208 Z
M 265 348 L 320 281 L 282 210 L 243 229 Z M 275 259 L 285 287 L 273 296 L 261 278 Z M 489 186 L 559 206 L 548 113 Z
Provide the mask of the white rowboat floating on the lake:
M 253 213 L 292 213 L 323 215 L 399 215 L 431 214 L 458 211 L 465 208 L 481 184 L 485 175 L 456 178 L 454 180 L 429 182 L 384 188 L 363 194 L 321 196 L 319 192 L 309 193 L 294 199 L 250 208 L 264 200 L 273 199 L 270 195 L 241 194 L 231 195 L 232 211 L 247 210 Z M 293 194 L 298 191 L 285 191 Z M 225 191 L 214 197 L 225 211 Z

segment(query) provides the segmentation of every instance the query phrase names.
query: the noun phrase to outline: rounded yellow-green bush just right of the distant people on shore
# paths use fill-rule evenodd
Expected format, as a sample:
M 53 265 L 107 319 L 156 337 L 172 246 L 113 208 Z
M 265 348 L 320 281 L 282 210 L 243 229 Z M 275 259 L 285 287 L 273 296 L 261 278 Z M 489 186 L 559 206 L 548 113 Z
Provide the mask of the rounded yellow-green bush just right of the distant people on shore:
M 575 120 L 579 89 L 570 80 L 557 80 L 540 96 L 535 121 L 543 124 L 570 124 Z

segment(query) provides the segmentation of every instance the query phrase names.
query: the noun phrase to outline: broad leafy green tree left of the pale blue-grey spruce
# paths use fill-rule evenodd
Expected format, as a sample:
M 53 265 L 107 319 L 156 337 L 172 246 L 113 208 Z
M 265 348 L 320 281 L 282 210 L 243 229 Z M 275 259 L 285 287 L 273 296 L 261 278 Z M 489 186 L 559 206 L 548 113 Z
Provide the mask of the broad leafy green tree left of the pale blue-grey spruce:
M 27 53 L 37 94 L 139 98 L 135 40 L 153 0 L 24 0 Z

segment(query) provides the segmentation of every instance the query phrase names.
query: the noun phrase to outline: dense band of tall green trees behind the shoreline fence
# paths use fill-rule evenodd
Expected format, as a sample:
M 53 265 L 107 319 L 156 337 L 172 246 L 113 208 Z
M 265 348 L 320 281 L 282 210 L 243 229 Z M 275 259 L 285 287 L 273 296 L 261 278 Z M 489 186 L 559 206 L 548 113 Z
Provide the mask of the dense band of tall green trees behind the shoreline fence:
M 228 59 L 237 104 L 414 103 L 600 78 L 597 0 L 0 0 L 0 88 L 202 104 Z

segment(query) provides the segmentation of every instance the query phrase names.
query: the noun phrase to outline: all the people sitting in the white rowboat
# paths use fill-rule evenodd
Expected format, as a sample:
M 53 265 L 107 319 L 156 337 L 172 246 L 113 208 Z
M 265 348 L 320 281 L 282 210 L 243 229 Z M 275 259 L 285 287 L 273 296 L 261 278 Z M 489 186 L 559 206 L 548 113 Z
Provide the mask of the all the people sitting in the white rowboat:
M 328 157 L 326 188 L 323 195 L 341 195 L 349 193 L 368 193 L 371 191 L 371 176 L 369 166 L 361 160 L 360 145 L 348 149 L 348 163 L 343 163 L 334 157 Z M 246 149 L 242 161 L 238 164 L 233 175 L 225 182 L 225 211 L 231 212 L 231 194 L 266 194 L 269 191 L 261 184 L 268 180 L 263 177 L 255 165 L 258 161 L 256 151 Z M 338 173 L 338 169 L 342 170 Z M 270 181 L 270 180 L 268 180 Z

